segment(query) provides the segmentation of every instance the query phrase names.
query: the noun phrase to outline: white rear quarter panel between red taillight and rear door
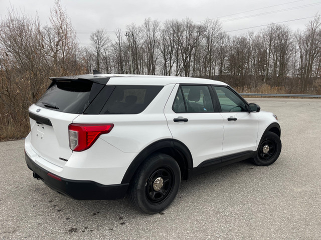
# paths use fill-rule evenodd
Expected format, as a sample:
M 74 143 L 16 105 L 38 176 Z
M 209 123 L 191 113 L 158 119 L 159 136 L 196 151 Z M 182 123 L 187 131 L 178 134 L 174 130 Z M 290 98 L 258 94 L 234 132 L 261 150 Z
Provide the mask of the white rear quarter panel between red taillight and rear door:
M 100 139 L 123 152 L 140 152 L 150 143 L 172 138 L 164 106 L 175 84 L 165 85 L 144 111 L 138 114 L 79 115 L 73 123 L 113 123 L 113 129 Z

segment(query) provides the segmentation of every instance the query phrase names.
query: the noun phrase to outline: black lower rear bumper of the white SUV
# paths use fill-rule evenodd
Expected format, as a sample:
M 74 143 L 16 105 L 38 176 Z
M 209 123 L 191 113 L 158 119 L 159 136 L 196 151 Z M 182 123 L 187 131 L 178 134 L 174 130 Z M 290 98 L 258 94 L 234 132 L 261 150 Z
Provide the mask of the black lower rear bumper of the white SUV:
M 36 164 L 27 154 L 26 163 L 52 189 L 78 200 L 112 200 L 122 198 L 129 183 L 103 185 L 95 181 L 71 180 L 56 175 Z M 54 175 L 54 177 L 48 175 Z M 35 174 L 34 174 L 35 175 Z M 37 176 L 37 177 L 38 177 Z M 57 178 L 57 179 L 56 179 Z

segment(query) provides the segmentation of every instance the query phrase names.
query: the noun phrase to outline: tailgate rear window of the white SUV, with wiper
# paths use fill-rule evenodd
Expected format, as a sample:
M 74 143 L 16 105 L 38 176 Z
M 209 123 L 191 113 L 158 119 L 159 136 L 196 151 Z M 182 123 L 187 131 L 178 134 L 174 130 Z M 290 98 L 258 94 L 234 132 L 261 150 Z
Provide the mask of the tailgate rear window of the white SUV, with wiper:
M 104 86 L 89 80 L 53 81 L 36 105 L 57 111 L 83 113 Z

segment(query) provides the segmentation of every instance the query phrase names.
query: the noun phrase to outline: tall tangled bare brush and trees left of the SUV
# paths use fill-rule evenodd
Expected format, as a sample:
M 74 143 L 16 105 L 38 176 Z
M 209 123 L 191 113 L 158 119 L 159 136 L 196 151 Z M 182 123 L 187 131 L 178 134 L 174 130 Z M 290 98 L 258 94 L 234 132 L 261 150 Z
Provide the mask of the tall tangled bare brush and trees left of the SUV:
M 50 23 L 41 28 L 37 15 L 32 18 L 14 9 L 0 23 L 0 128 L 10 122 L 13 128 L 22 128 L 18 135 L 28 131 L 28 106 L 46 90 L 48 76 L 82 70 L 76 33 L 59 0 Z

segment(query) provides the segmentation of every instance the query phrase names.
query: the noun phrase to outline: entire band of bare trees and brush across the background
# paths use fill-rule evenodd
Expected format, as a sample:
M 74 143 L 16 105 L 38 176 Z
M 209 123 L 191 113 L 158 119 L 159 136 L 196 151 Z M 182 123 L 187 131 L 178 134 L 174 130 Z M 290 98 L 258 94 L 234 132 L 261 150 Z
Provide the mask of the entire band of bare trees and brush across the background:
M 81 47 L 60 0 L 49 24 L 11 9 L 0 21 L 0 139 L 29 131 L 28 107 L 46 90 L 49 76 L 92 73 L 161 74 L 222 80 L 241 91 L 321 93 L 321 20 L 304 30 L 270 24 L 230 35 L 219 19 L 165 22 L 104 29 Z

